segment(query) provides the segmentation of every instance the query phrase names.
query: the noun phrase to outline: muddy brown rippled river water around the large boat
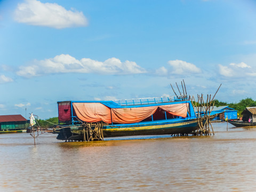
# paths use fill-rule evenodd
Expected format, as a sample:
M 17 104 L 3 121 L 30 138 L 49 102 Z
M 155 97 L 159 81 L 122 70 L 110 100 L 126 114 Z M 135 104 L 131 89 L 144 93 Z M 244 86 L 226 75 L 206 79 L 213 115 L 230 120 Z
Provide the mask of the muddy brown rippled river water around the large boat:
M 63 142 L 0 135 L 0 191 L 256 191 L 256 127 Z

